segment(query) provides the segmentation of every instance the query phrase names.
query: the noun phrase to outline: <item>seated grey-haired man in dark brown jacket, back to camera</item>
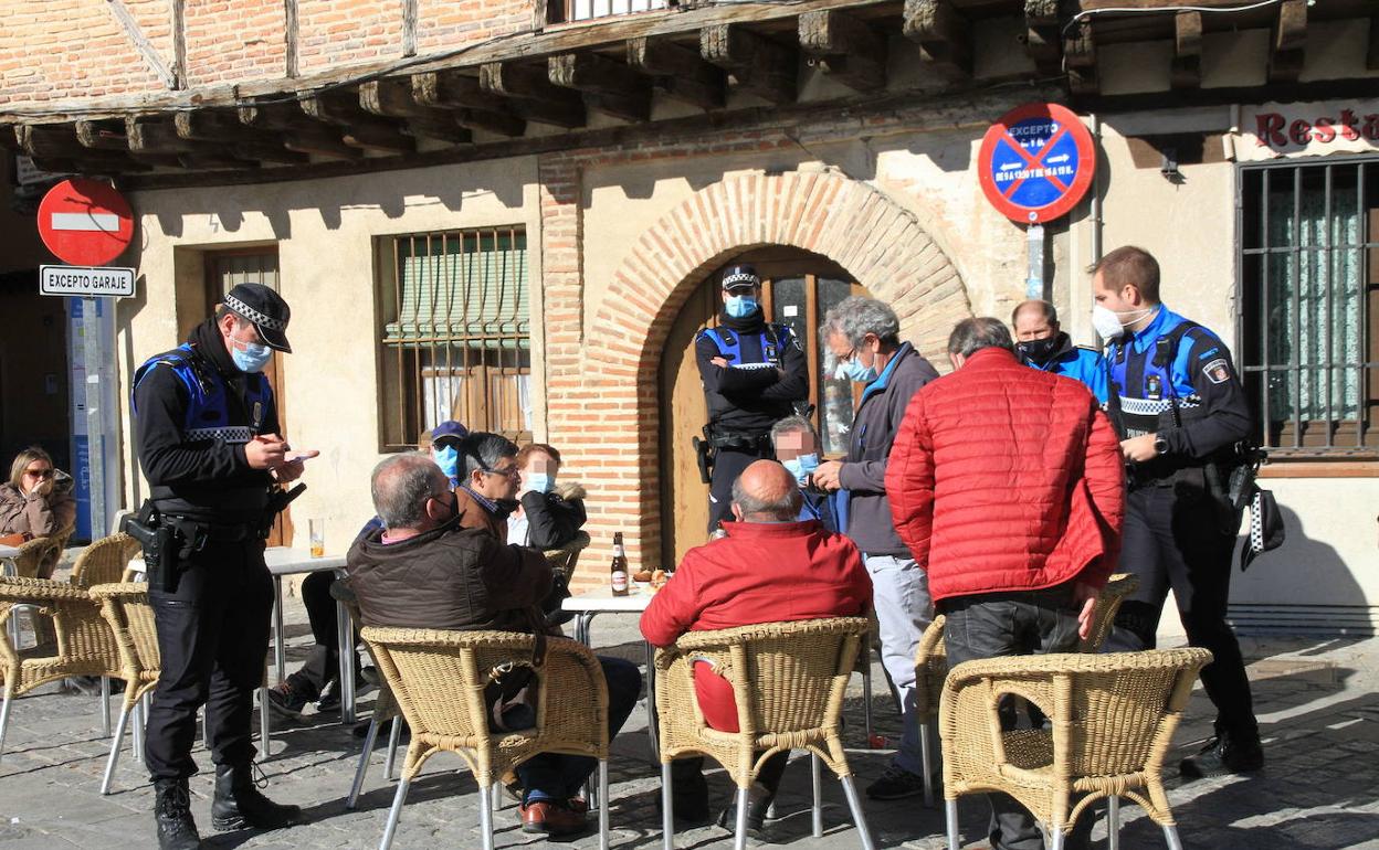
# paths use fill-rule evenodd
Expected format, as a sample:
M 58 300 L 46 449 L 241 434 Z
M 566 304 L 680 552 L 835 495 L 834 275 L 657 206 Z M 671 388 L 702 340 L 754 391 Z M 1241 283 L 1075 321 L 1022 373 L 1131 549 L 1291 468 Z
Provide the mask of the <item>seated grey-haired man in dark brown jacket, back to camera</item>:
M 550 588 L 541 552 L 463 528 L 459 496 L 423 455 L 394 455 L 374 468 L 374 508 L 383 528 L 349 551 L 349 585 L 364 625 L 534 632 L 536 603 Z M 561 641 L 563 638 L 547 638 Z M 600 659 L 608 681 L 608 734 L 616 736 L 641 690 L 637 667 Z M 503 714 L 503 719 L 509 715 Z M 541 754 L 517 769 L 525 792 L 524 832 L 574 835 L 585 829 L 575 794 L 594 759 Z

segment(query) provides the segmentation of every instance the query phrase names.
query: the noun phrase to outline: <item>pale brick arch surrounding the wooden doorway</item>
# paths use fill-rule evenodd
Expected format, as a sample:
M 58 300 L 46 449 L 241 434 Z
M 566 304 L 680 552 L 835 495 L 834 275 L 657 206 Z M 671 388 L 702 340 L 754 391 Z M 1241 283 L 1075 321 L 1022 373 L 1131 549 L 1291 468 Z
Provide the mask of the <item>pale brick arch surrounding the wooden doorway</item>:
M 761 245 L 801 248 L 847 269 L 895 309 L 902 336 L 935 362 L 953 324 L 972 314 L 943 249 L 913 212 L 867 183 L 790 172 L 729 178 L 695 193 L 651 225 L 614 273 L 585 343 L 585 362 L 597 362 L 597 373 L 547 395 L 552 438 L 568 434 L 571 445 L 586 446 L 575 463 L 600 479 L 589 522 L 596 541 L 625 529 L 633 555 L 658 555 L 665 340 L 709 273 Z M 590 552 L 593 563 L 603 562 L 601 548 Z M 585 574 L 607 580 L 593 573 Z

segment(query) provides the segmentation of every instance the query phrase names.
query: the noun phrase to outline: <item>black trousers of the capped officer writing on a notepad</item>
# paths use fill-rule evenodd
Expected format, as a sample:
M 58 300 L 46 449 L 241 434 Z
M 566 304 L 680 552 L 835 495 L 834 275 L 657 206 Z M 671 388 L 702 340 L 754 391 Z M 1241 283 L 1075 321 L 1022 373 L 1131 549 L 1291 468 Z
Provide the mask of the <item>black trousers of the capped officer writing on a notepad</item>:
M 207 543 L 179 565 L 175 592 L 149 588 L 161 670 L 143 752 L 153 780 L 196 773 L 196 711 L 205 705 L 211 760 L 248 765 L 254 692 L 263 683 L 273 580 L 263 541 Z

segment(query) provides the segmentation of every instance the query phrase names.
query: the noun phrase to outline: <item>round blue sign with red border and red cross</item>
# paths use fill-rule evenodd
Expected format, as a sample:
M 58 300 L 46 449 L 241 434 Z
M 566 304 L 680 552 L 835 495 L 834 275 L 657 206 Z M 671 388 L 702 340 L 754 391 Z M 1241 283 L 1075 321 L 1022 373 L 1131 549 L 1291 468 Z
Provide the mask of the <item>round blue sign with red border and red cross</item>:
M 1058 103 L 1029 103 L 986 131 L 976 157 L 986 200 L 1005 216 L 1040 225 L 1066 215 L 1092 183 L 1092 134 Z

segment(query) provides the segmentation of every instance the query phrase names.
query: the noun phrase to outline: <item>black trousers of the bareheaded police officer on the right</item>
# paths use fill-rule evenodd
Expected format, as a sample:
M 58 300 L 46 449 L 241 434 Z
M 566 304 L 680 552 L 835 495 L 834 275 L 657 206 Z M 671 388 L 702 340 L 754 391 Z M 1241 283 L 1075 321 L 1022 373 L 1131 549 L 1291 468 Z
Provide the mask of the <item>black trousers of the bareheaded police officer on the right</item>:
M 1245 738 L 1259 734 L 1245 661 L 1226 623 L 1230 561 L 1236 535 L 1225 533 L 1215 504 L 1198 492 L 1145 486 L 1129 493 L 1121 569 L 1139 577 L 1139 590 L 1121 605 L 1109 652 L 1154 647 L 1158 617 L 1169 588 L 1191 646 L 1209 649 L 1202 687 L 1216 705 L 1216 732 Z

